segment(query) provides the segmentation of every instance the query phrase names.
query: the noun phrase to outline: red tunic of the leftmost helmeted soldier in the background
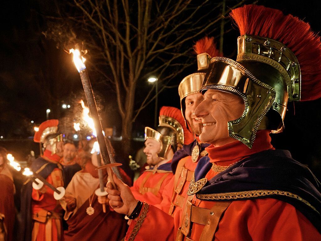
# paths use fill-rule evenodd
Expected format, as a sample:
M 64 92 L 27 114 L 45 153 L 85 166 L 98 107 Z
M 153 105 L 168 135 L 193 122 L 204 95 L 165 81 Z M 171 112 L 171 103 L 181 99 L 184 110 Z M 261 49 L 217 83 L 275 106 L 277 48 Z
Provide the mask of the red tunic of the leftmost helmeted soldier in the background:
M 58 163 L 60 159 L 60 156 L 57 156 L 55 154 L 51 156 L 51 152 L 48 150 L 44 152 L 44 155 L 42 157 L 47 161 L 53 163 Z M 59 168 L 55 168 L 48 175 L 46 180 L 48 183 L 52 184 L 55 187 L 64 186 L 62 171 Z M 32 189 L 32 214 L 37 215 L 38 213 L 39 216 L 43 216 L 46 211 L 49 211 L 49 213 L 52 213 L 52 215 L 50 215 L 50 218 L 48 218 L 45 222 L 34 220 L 34 225 L 32 228 L 32 240 L 48 241 L 48 238 L 51 237 L 52 241 L 59 241 L 62 240 L 60 216 L 62 208 L 60 207 L 59 201 L 54 199 L 54 191 L 45 185 L 44 188 L 44 193 L 39 192 L 40 190 Z

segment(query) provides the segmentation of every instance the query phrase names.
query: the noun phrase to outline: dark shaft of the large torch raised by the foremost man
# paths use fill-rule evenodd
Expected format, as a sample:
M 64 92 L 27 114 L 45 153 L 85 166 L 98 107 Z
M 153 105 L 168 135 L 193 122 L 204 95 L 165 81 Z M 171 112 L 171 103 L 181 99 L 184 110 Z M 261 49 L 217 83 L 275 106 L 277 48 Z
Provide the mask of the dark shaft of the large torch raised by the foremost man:
M 92 88 L 91 88 L 91 83 L 90 83 L 90 80 L 89 80 L 87 69 L 81 70 L 79 74 L 80 74 L 80 78 L 81 78 L 81 81 L 82 81 L 82 87 L 83 87 L 83 90 L 84 90 L 85 95 L 86 95 L 86 99 L 87 99 L 89 111 L 90 111 L 90 114 L 91 114 L 91 118 L 94 121 L 95 129 L 96 129 L 96 132 L 97 132 L 97 141 L 98 141 L 98 144 L 99 144 L 102 160 L 104 162 L 104 165 L 110 164 L 110 163 L 114 163 L 115 160 L 114 160 L 114 158 L 113 158 L 113 156 L 111 154 L 110 147 L 106 144 L 106 140 L 105 140 L 105 137 L 104 137 L 103 132 L 102 132 L 103 130 L 102 130 L 102 126 L 101 126 L 101 121 L 100 121 L 100 118 L 99 118 L 97 105 L 96 105 L 94 93 L 93 93 Z M 122 177 L 121 177 L 121 175 L 119 173 L 118 168 L 117 167 L 113 167 L 113 171 L 117 175 L 117 177 L 122 180 Z

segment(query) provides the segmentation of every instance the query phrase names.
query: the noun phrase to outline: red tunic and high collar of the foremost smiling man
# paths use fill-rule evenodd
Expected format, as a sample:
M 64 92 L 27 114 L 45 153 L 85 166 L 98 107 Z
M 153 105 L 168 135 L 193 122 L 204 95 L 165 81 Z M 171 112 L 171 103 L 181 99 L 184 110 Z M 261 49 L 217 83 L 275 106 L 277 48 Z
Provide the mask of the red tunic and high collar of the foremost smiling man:
M 224 147 L 210 146 L 206 150 L 209 152 L 211 162 L 220 166 L 228 166 L 253 153 L 273 148 L 270 141 L 271 138 L 267 131 L 259 131 L 252 149 L 240 142 L 233 142 Z M 210 179 L 216 174 L 218 172 L 211 169 L 206 174 L 206 178 Z M 219 202 L 201 201 L 194 197 L 192 203 L 201 208 L 212 209 Z M 151 238 L 153 241 L 175 240 L 174 224 L 177 226 L 180 223 L 182 216 L 185 215 L 185 208 L 183 210 L 180 217 L 174 216 L 173 220 L 169 215 L 152 206 L 149 206 L 148 211 L 142 209 L 137 220 L 145 217 L 143 223 L 137 220 L 132 222 L 126 240 L 151 240 Z M 157 227 L 157 236 L 151 236 L 154 233 L 152 227 Z M 190 240 L 200 240 L 204 227 L 204 225 L 194 223 Z M 139 229 L 137 234 L 134 232 L 136 229 Z M 233 201 L 223 214 L 216 232 L 213 230 L 212 234 L 214 234 L 213 240 L 216 241 L 321 240 L 321 234 L 302 213 L 291 204 L 273 198 Z M 184 240 L 187 239 L 184 238 Z

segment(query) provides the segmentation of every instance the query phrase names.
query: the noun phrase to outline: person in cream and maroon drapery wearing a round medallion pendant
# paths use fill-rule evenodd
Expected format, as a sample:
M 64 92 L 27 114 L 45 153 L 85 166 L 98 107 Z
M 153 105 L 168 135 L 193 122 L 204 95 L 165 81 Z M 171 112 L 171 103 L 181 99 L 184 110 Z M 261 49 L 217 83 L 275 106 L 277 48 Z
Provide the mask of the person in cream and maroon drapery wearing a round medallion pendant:
M 91 146 L 92 147 L 92 146 Z M 97 152 L 98 151 L 98 152 Z M 84 168 L 77 172 L 66 188 L 66 194 L 60 200 L 66 210 L 64 219 L 67 220 L 68 230 L 64 232 L 65 241 L 79 240 L 110 240 L 118 241 L 126 234 L 126 220 L 124 216 L 110 210 L 107 203 L 106 213 L 95 195 L 99 188 L 97 158 L 98 150 L 84 150 L 87 156 Z M 92 153 L 92 155 L 91 155 Z M 106 169 L 102 169 L 104 182 L 107 183 Z

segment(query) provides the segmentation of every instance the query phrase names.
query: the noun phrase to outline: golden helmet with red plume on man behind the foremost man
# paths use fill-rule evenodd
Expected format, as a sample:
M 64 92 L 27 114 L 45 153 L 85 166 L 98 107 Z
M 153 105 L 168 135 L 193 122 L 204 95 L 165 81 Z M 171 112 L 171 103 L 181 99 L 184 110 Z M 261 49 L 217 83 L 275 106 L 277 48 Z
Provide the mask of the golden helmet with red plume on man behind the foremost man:
M 194 93 L 198 93 L 204 77 L 206 70 L 210 64 L 211 58 L 214 56 L 221 56 L 218 49 L 216 49 L 216 43 L 213 37 L 204 37 L 198 40 L 194 45 L 195 53 L 197 54 L 197 72 L 186 76 L 178 86 L 178 94 L 181 103 L 181 112 L 185 119 L 185 124 L 188 128 L 186 117 L 185 117 L 185 98 L 186 96 Z M 212 57 L 211 57 L 212 56 Z

